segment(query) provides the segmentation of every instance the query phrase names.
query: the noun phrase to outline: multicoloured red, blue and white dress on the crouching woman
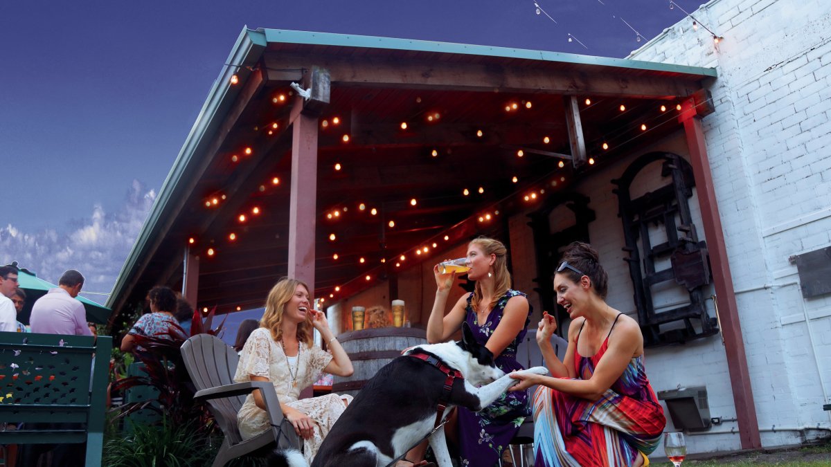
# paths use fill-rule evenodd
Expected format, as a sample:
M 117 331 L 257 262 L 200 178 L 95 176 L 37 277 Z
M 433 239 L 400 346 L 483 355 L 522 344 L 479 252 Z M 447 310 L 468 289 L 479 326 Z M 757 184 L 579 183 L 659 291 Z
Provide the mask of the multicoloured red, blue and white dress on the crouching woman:
M 578 379 L 588 380 L 607 351 L 609 337 L 594 356 L 581 356 L 577 339 L 574 366 Z M 638 356 L 597 401 L 538 387 L 534 393 L 535 465 L 629 466 L 637 460 L 638 451 L 649 455 L 656 449 L 665 426 L 664 410 L 647 379 L 643 356 Z

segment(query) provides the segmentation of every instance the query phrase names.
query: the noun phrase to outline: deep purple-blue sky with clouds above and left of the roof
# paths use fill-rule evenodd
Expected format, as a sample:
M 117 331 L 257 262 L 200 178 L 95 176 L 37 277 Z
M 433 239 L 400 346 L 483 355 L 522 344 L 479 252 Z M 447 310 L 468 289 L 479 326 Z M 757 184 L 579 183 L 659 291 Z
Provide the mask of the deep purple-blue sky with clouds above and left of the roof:
M 533 0 L 0 2 L 0 263 L 95 270 L 109 292 L 243 26 L 625 57 L 646 41 L 617 13 L 647 38 L 683 19 L 668 0 L 538 3 L 558 24 Z

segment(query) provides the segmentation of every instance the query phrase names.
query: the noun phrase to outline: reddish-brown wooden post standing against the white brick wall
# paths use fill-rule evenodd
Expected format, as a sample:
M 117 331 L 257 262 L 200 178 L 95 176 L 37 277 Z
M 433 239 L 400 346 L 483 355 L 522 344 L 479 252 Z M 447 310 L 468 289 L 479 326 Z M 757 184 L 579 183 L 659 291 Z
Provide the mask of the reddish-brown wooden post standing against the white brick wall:
M 733 278 L 727 262 L 724 232 L 721 229 L 718 202 L 715 199 L 710 160 L 704 132 L 701 130 L 701 114 L 706 115 L 711 107 L 696 106 L 696 99 L 690 98 L 681 104 L 681 116 L 686 132 L 686 144 L 690 150 L 693 177 L 696 179 L 698 202 L 701 204 L 701 222 L 710 252 L 713 284 L 720 315 L 721 332 L 725 342 L 727 368 L 730 386 L 733 389 L 733 403 L 736 418 L 739 419 L 741 449 L 759 449 L 762 442 L 759 435 L 759 421 L 750 386 L 750 371 L 745 356 L 745 342 L 741 337 L 739 309 L 735 302 Z

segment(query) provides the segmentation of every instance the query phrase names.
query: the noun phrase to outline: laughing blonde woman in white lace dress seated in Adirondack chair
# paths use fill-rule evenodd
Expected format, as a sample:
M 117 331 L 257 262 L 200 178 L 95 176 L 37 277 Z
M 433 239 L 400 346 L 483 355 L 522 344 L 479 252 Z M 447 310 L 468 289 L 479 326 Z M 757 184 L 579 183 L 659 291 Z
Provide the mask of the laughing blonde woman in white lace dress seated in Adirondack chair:
M 312 327 L 328 342 L 330 355 L 312 342 Z M 329 329 L 326 315 L 312 309 L 308 287 L 283 278 L 268 292 L 260 327 L 251 333 L 240 355 L 234 381 L 271 381 L 283 414 L 303 440 L 303 456 L 312 463 L 323 438 L 329 433 L 352 396 L 312 397 L 297 400 L 321 371 L 352 375 L 352 361 Z M 270 428 L 263 396 L 253 391 L 237 414 L 239 433 L 252 438 Z

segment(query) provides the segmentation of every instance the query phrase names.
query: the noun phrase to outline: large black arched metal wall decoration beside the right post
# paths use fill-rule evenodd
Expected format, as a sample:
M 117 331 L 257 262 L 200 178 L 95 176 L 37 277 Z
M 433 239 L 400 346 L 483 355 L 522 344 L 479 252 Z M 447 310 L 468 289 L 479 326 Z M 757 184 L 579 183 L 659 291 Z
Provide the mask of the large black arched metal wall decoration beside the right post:
M 661 175 L 671 184 L 632 199 L 632 181 L 647 165 L 662 162 Z M 704 288 L 711 281 L 710 258 L 704 241 L 698 239 L 692 223 L 689 199 L 695 180 L 691 165 L 680 155 L 652 152 L 629 165 L 617 184 L 619 215 L 629 258 L 629 275 L 635 289 L 638 322 L 644 345 L 655 347 L 712 336 L 718 333 L 714 317 L 707 314 Z M 677 224 L 676 224 L 677 221 Z M 650 227 L 664 229 L 666 241 L 652 244 Z M 667 259 L 671 267 L 658 270 Z M 656 312 L 652 289 L 669 281 L 686 289 L 689 302 Z M 672 326 L 681 322 L 682 326 Z M 668 329 L 661 330 L 661 326 Z

